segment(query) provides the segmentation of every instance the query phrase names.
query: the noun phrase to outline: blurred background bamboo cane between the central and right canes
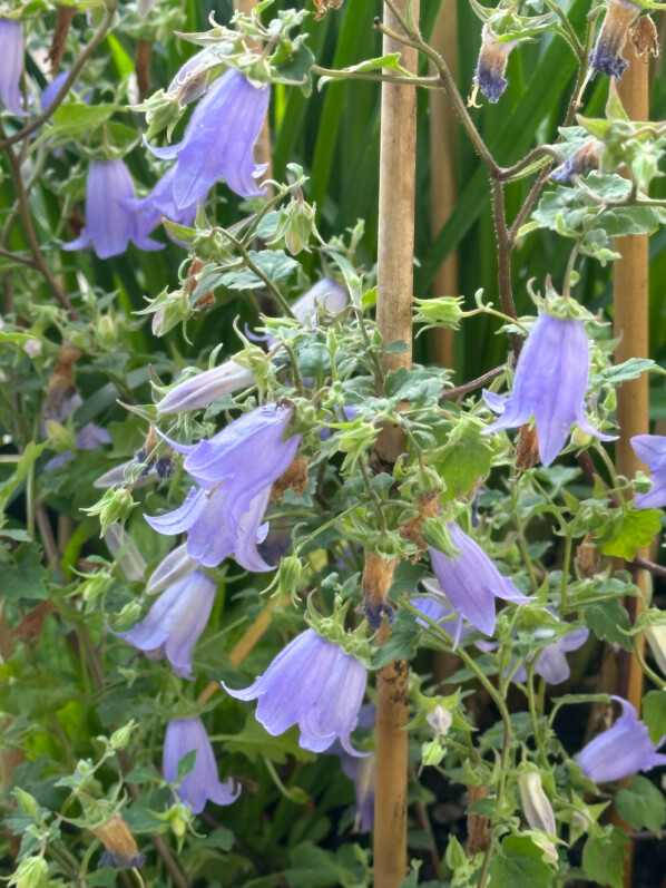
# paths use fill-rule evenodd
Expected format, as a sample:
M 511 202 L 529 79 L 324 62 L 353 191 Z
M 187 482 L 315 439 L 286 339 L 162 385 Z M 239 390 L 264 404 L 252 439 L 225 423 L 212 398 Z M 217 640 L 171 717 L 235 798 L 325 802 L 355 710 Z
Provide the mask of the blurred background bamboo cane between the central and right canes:
M 456 77 L 458 68 L 458 10 L 456 0 L 442 0 L 430 45 L 440 53 Z M 456 111 L 443 89 L 430 94 L 430 175 L 432 235 L 449 221 L 456 206 Z M 458 254 L 449 253 L 438 271 L 434 296 L 458 295 Z M 435 360 L 440 367 L 453 367 L 453 331 L 434 331 Z

